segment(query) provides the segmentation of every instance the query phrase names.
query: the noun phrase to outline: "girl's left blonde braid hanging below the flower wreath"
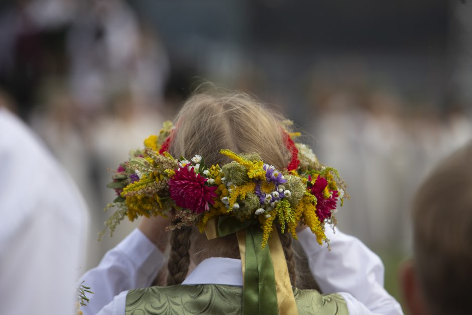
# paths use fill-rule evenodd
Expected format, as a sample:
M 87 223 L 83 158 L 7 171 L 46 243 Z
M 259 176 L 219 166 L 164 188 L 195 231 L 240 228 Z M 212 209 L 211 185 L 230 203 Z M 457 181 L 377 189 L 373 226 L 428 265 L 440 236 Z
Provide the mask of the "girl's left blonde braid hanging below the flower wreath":
M 191 228 L 181 227 L 172 231 L 170 236 L 170 255 L 167 263 L 169 273 L 167 275 L 167 285 L 180 284 L 187 276 L 188 265 L 190 264 L 190 235 Z

